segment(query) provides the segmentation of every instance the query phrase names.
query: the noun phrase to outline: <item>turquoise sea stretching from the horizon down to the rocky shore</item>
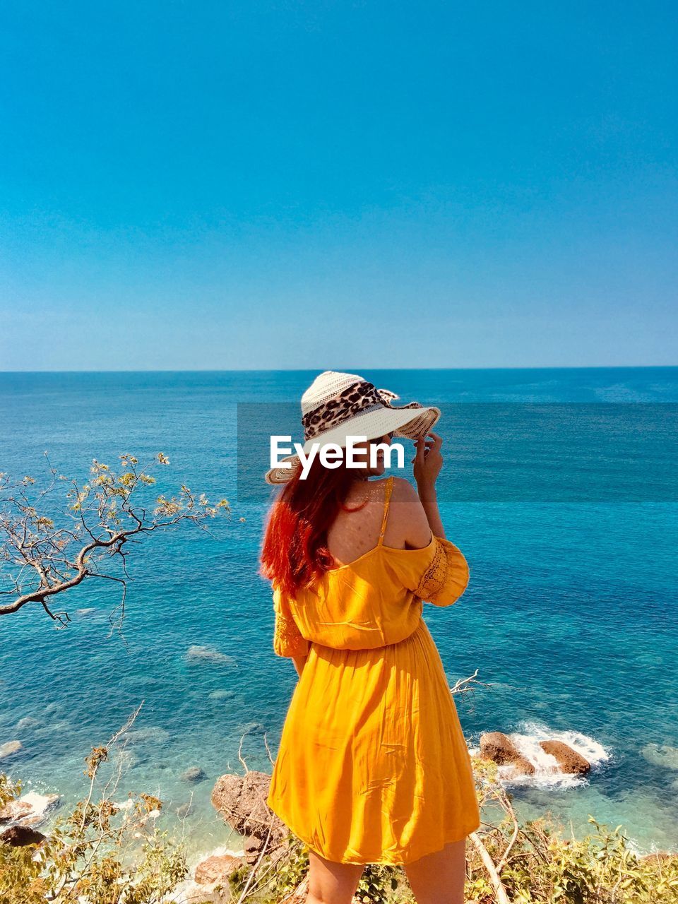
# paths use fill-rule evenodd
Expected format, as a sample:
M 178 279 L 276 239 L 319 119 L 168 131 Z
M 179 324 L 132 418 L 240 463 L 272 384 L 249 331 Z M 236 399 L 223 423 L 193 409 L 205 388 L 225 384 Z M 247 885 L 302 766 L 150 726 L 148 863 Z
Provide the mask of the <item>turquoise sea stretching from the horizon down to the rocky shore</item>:
M 113 467 L 122 453 L 146 461 L 162 451 L 171 465 L 155 472 L 162 477 L 156 490 L 171 493 L 185 483 L 233 506 L 231 520 L 211 523 L 211 534 L 184 524 L 130 551 L 124 641 L 109 636 L 119 588 L 102 579 L 61 601 L 73 619 L 64 630 L 55 631 L 37 607 L 0 619 L 0 745 L 23 745 L 3 761 L 13 776 L 37 790 L 77 796 L 89 748 L 143 701 L 119 760 L 120 794 L 158 794 L 171 814 L 192 802 L 184 825 L 190 848 L 225 843 L 209 805 L 213 781 L 240 767 L 241 738 L 248 766 L 269 771 L 264 733 L 275 756 L 297 677 L 272 652 L 271 599 L 257 573 L 268 490 L 237 498 L 237 404 L 296 402 L 315 373 L 0 374 L 0 470 L 43 481 L 47 450 L 60 474 L 84 482 L 92 457 Z M 441 507 L 471 581 L 454 607 L 425 607 L 425 617 L 450 683 L 476 669 L 483 683 L 456 698 L 469 746 L 490 730 L 514 733 L 528 752 L 542 737 L 569 740 L 594 762 L 589 777 L 554 780 L 537 758 L 535 777 L 509 782 L 519 813 L 550 809 L 576 834 L 587 831 L 592 814 L 623 824 L 643 850 L 678 849 L 678 507 L 671 484 L 678 368 L 363 375 L 402 400 L 444 409 L 448 490 Z M 456 442 L 446 422 L 446 406 L 457 402 L 511 403 L 516 414 L 527 402 L 642 411 L 633 429 L 634 442 L 651 439 L 642 452 L 647 498 L 609 490 L 626 487 L 634 467 L 637 485 L 633 450 L 606 457 L 582 439 L 575 455 L 575 434 L 559 460 L 537 454 L 529 466 L 523 461 L 513 475 L 513 487 L 524 482 L 523 496 L 460 499 L 453 488 L 466 486 L 471 471 L 467 437 L 464 446 Z M 535 424 L 542 445 L 543 429 Z M 547 446 L 558 447 L 559 437 Z M 252 461 L 259 451 L 251 449 Z M 241 441 L 240 469 L 243 456 Z M 596 471 L 601 461 L 603 477 Z M 505 484 L 504 464 L 497 462 L 489 478 L 485 473 L 485 486 L 493 473 Z M 591 482 L 607 481 L 592 501 L 577 494 L 541 501 L 528 492 L 586 485 L 589 466 Z M 155 490 L 147 500 L 154 497 Z M 212 655 L 190 653 L 192 647 Z M 193 766 L 206 778 L 191 785 L 182 773 Z

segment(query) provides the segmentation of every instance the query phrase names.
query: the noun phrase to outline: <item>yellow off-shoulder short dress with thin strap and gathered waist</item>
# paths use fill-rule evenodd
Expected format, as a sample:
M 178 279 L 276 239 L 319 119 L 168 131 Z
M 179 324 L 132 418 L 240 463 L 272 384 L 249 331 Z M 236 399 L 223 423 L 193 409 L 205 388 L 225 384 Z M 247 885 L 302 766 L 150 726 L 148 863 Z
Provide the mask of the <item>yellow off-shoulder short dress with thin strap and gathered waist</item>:
M 274 652 L 307 654 L 287 709 L 268 806 L 311 850 L 342 863 L 402 864 L 480 825 L 466 740 L 423 600 L 466 590 L 457 547 L 383 545 L 296 598 L 273 592 Z

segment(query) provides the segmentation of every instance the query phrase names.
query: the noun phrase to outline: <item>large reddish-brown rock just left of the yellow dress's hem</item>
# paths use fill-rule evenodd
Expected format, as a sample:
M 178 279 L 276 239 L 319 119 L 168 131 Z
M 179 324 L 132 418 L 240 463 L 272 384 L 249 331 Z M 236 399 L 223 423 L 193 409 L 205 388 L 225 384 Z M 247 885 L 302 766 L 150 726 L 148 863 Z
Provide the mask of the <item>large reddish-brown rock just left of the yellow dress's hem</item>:
M 266 803 L 270 776 L 250 770 L 244 776 L 226 774 L 212 789 L 212 806 L 241 835 L 263 844 L 270 829 L 270 843 L 287 837 L 289 830 Z M 246 849 L 246 853 L 250 853 Z

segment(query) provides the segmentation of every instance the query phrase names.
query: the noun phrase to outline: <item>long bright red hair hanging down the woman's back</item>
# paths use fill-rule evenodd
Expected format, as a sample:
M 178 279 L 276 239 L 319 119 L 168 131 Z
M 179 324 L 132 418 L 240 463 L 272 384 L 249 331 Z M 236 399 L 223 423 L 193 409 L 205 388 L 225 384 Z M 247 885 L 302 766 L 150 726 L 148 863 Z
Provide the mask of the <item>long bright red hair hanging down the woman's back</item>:
M 287 597 L 310 587 L 330 570 L 334 559 L 327 549 L 327 531 L 337 514 L 355 512 L 344 505 L 353 475 L 344 462 L 325 467 L 315 457 L 306 480 L 297 466 L 268 513 L 261 547 L 261 574 Z

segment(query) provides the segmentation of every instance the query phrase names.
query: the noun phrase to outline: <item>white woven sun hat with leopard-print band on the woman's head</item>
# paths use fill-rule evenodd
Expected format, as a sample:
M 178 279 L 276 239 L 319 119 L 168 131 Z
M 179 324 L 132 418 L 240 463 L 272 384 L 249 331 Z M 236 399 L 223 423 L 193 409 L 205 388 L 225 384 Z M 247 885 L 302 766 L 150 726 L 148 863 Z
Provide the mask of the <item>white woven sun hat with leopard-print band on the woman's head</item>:
M 378 390 L 357 373 L 325 371 L 315 377 L 301 397 L 301 423 L 304 428 L 304 453 L 314 443 L 335 443 L 345 447 L 347 437 L 377 439 L 387 433 L 416 439 L 438 422 L 440 409 L 410 401 L 393 406 L 395 392 Z M 282 461 L 291 466 L 272 467 L 266 474 L 268 484 L 285 484 L 299 462 L 297 455 Z

